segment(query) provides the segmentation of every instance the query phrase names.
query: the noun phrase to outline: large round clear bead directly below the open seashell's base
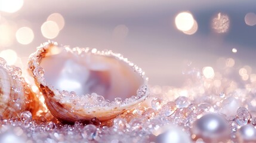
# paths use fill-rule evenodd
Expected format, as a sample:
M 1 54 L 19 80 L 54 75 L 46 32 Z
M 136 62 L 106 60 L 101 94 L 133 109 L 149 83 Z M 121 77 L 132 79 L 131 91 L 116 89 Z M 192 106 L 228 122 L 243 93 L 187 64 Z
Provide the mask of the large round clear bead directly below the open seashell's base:
M 84 127 L 82 130 L 82 136 L 85 139 L 88 139 L 90 141 L 94 140 L 98 136 L 97 128 L 96 126 L 89 124 Z

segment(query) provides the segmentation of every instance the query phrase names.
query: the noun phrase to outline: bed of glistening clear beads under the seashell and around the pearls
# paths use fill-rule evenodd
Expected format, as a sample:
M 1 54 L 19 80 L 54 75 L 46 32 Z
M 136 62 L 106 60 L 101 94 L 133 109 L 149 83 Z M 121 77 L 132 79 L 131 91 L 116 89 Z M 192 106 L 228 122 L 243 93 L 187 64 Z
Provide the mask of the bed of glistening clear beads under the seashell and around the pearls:
M 242 129 L 253 129 L 256 133 L 255 128 L 250 128 L 256 126 L 256 116 L 252 116 L 252 111 L 245 104 L 245 107 L 238 108 L 235 115 L 228 116 L 216 110 L 215 105 L 206 102 L 195 104 L 195 100 L 184 96 L 168 101 L 150 95 L 147 101 L 151 101 L 148 107 L 140 105 L 106 122 L 93 118 L 87 123 L 78 121 L 74 125 L 47 120 L 44 116 L 32 119 L 32 114 L 24 111 L 19 117 L 1 120 L 0 139 L 11 135 L 20 142 L 157 142 L 162 134 L 156 133 L 158 130 L 175 125 L 192 136 L 191 142 L 199 142 L 204 138 L 193 140 L 195 135 L 191 128 L 196 120 L 208 113 L 220 114 L 227 120 L 230 142 L 246 139 L 240 133 Z

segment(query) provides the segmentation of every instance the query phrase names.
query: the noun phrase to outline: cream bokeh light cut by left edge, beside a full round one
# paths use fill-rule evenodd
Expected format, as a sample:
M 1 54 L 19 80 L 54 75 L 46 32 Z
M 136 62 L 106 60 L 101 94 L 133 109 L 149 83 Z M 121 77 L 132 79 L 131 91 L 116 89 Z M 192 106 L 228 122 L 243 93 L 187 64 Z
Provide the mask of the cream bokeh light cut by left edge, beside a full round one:
M 0 46 L 10 46 L 13 41 L 13 28 L 8 24 L 0 24 Z

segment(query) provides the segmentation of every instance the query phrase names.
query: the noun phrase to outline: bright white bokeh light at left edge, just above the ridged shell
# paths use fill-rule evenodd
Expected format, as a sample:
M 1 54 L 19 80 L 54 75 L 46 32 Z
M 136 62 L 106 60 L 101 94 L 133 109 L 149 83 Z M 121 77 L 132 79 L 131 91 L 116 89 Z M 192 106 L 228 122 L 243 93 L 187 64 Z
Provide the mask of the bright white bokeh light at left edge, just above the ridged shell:
M 0 57 L 7 61 L 8 65 L 13 65 L 17 60 L 17 53 L 13 49 L 5 49 L 0 52 Z

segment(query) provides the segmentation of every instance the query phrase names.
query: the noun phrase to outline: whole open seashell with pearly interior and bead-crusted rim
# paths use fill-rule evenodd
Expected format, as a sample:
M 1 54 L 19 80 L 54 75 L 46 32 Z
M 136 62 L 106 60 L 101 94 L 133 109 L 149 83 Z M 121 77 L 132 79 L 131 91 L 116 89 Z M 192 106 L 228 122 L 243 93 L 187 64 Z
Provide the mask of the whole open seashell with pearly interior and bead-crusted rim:
M 51 114 L 66 123 L 112 119 L 149 95 L 144 72 L 112 51 L 47 42 L 29 68 Z

